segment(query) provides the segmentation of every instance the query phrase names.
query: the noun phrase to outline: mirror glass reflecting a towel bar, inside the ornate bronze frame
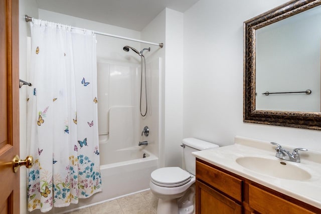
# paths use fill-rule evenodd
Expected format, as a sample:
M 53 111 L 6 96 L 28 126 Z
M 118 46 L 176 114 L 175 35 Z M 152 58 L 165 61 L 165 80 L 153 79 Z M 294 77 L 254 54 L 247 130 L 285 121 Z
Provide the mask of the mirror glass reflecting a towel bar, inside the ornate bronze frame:
M 255 109 L 321 112 L 321 6 L 259 28 L 255 39 Z

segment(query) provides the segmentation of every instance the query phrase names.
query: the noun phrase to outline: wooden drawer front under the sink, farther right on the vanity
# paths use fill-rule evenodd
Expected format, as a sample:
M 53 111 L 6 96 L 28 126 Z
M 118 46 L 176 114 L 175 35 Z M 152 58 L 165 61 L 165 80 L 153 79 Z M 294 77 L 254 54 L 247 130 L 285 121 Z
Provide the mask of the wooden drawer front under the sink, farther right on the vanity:
M 249 184 L 249 206 L 264 213 L 311 214 L 301 206 L 284 200 L 276 195 Z

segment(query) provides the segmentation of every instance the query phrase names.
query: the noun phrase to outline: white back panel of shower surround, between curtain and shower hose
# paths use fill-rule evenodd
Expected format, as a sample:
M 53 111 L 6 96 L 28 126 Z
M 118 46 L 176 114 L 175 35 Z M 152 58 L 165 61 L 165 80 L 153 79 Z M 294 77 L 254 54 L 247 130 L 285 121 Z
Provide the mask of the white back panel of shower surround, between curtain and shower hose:
M 98 62 L 99 143 L 133 146 L 139 136 L 139 66 Z

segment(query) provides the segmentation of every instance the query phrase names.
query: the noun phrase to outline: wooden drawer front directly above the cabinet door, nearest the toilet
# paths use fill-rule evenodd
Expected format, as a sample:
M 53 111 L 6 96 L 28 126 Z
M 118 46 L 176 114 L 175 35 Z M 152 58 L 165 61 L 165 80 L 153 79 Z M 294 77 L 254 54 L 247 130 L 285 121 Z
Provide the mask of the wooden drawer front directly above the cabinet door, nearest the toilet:
M 209 165 L 196 161 L 196 176 L 211 186 L 242 201 L 242 180 Z

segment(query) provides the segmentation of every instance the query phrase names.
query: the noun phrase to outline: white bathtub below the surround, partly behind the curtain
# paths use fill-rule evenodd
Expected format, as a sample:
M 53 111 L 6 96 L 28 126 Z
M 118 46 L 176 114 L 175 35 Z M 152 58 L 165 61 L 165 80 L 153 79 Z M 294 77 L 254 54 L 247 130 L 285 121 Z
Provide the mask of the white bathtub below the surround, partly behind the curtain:
M 102 191 L 89 198 L 79 199 L 78 204 L 54 207 L 48 213 L 65 213 L 148 189 L 150 173 L 158 166 L 158 158 L 138 146 L 118 149 L 102 157 L 100 159 Z M 32 213 L 38 213 L 38 211 Z

